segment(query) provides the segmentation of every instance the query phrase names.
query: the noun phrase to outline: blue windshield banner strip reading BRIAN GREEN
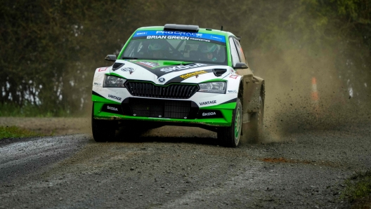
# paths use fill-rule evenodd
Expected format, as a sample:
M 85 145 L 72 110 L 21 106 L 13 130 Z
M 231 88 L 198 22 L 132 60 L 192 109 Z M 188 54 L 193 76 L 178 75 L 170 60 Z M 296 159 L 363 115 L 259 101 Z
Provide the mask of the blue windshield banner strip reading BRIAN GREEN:
M 141 37 L 142 39 L 181 39 L 190 41 L 218 41 L 226 43 L 226 37 L 215 34 L 200 34 L 191 32 L 172 32 L 172 31 L 138 31 L 133 36 Z

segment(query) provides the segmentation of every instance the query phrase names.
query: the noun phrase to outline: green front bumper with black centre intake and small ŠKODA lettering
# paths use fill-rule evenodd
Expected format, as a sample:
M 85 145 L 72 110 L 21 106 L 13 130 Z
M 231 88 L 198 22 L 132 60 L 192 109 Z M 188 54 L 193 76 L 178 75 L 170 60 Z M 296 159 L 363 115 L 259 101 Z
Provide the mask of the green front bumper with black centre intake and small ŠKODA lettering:
M 233 109 L 235 102 L 198 107 L 195 102 L 184 100 L 127 97 L 119 103 L 93 95 L 94 119 L 230 126 Z

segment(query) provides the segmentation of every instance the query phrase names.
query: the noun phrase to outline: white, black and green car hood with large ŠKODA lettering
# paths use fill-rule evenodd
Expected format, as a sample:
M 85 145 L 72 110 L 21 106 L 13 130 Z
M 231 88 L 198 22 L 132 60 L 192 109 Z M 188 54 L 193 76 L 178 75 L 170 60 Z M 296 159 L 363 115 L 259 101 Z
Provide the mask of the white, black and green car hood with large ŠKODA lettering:
M 226 72 L 216 76 L 214 69 L 226 69 Z M 164 60 L 117 60 L 110 67 L 110 74 L 122 76 L 125 79 L 152 81 L 159 85 L 169 83 L 201 83 L 209 80 L 223 79 L 233 72 L 226 65 L 206 63 L 191 63 Z

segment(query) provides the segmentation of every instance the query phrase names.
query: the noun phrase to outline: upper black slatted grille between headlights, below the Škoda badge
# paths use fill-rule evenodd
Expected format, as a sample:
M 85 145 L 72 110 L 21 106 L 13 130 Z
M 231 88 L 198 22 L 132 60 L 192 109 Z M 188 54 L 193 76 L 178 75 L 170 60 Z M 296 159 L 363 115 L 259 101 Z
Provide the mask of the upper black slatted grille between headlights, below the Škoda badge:
M 197 90 L 197 85 L 189 84 L 170 84 L 169 86 L 156 86 L 153 83 L 144 83 L 138 81 L 126 81 L 125 87 L 131 95 L 136 97 L 156 97 L 169 99 L 188 99 L 192 97 Z

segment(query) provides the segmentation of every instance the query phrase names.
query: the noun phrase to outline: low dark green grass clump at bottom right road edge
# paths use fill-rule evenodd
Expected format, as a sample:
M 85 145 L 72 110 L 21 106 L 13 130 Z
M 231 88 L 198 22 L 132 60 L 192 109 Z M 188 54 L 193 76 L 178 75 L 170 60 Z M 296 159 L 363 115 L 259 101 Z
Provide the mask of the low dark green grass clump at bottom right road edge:
M 356 173 L 346 180 L 345 184 L 342 198 L 353 202 L 371 196 L 371 170 Z

